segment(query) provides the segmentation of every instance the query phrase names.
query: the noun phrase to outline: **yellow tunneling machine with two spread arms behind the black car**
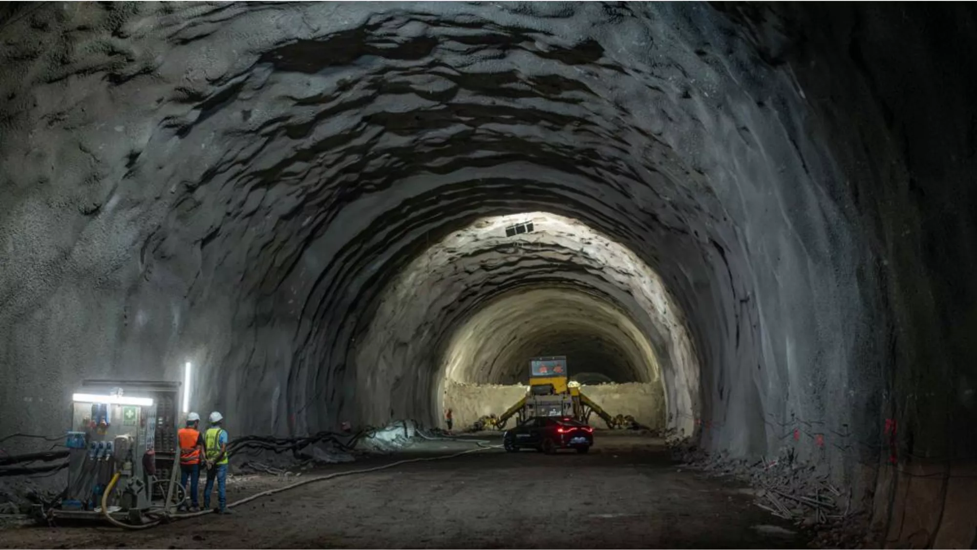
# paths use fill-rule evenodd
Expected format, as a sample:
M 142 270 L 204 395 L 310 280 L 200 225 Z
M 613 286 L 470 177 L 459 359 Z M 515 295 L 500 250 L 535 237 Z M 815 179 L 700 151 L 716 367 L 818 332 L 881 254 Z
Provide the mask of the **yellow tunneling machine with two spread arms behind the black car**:
M 608 428 L 621 428 L 633 420 L 620 414 L 611 416 L 583 395 L 580 384 L 570 380 L 566 356 L 540 357 L 530 360 L 530 387 L 526 396 L 499 416 L 483 417 L 476 427 L 502 429 L 513 416 L 520 423 L 532 416 L 573 416 L 587 422 L 591 413 L 600 416 Z

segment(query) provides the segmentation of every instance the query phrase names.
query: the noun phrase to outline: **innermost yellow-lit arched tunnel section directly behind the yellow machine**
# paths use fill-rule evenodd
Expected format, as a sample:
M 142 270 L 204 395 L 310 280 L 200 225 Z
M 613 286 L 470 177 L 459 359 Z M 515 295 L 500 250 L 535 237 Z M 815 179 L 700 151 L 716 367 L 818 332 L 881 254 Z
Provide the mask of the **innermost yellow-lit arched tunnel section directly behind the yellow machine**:
M 606 300 L 558 287 L 507 293 L 466 321 L 448 348 L 439 404 L 458 428 L 481 426 L 527 395 L 531 360 L 541 357 L 566 358 L 565 374 L 603 412 L 664 428 L 664 391 L 648 338 Z M 612 427 L 597 416 L 591 422 Z

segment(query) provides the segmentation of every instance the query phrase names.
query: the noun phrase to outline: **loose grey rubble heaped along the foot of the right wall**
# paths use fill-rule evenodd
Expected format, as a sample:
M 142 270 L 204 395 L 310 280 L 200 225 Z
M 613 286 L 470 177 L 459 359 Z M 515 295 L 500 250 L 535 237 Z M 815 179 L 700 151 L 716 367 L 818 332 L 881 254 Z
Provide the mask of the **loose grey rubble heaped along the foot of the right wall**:
M 868 532 L 865 515 L 852 510 L 850 488 L 836 487 L 813 464 L 782 449 L 772 459 L 730 458 L 708 453 L 688 441 L 672 445 L 675 458 L 710 475 L 734 476 L 754 487 L 756 505 L 813 534 L 811 546 L 859 548 Z

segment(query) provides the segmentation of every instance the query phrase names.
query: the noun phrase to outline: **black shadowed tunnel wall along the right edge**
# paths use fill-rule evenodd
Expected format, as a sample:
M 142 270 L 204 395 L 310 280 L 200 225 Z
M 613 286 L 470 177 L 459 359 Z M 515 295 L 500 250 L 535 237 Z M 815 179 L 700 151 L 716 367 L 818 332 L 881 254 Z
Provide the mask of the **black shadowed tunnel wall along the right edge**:
M 977 419 L 977 61 L 963 54 L 977 47 L 977 17 L 921 4 L 807 15 L 820 31 L 768 55 L 794 67 L 845 174 L 836 192 L 852 197 L 876 253 L 858 275 L 877 278 L 870 322 L 882 346 L 853 382 L 882 381 L 863 411 L 880 439 L 849 449 L 868 463 L 882 449 L 872 527 L 888 543 L 973 547 L 977 524 L 964 510 L 977 441 L 960 435 Z

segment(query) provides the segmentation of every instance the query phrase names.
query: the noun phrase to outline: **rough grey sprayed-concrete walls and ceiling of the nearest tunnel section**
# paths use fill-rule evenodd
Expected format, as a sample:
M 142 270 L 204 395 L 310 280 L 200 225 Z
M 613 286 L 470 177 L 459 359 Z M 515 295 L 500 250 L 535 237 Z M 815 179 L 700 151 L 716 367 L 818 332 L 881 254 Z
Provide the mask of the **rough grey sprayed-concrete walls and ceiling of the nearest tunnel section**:
M 916 487 L 896 468 L 946 481 L 977 455 L 977 28 L 931 6 L 15 8 L 0 434 L 64 427 L 12 403 L 185 360 L 237 432 L 362 416 L 356 342 L 401 269 L 481 216 L 547 211 L 662 276 L 703 444 L 803 427 L 800 456 L 864 494 L 878 473 L 890 536 L 946 542 L 956 508 L 891 513 Z

